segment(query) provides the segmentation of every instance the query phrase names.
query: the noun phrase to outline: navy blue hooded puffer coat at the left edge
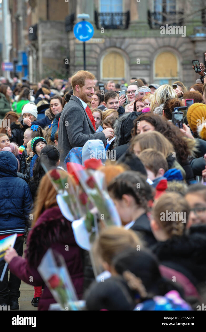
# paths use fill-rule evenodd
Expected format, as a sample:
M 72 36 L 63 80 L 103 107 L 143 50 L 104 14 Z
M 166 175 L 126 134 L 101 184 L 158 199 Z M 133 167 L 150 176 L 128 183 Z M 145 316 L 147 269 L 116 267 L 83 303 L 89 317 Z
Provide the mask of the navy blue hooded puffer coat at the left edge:
M 0 235 L 22 234 L 30 229 L 32 197 L 26 181 L 17 177 L 18 162 L 12 152 L 0 152 Z M 31 218 L 30 218 L 31 219 Z

